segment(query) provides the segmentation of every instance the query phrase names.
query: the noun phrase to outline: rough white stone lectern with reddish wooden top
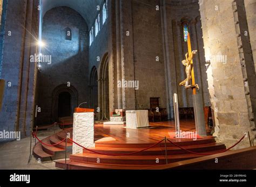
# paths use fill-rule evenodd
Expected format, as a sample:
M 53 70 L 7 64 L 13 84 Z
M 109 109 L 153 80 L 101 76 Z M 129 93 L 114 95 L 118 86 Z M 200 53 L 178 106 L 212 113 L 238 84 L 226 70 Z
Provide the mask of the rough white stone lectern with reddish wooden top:
M 73 141 L 83 147 L 94 147 L 94 109 L 76 108 L 73 118 Z M 72 154 L 83 153 L 83 148 L 73 143 Z

